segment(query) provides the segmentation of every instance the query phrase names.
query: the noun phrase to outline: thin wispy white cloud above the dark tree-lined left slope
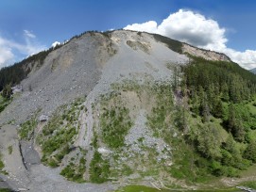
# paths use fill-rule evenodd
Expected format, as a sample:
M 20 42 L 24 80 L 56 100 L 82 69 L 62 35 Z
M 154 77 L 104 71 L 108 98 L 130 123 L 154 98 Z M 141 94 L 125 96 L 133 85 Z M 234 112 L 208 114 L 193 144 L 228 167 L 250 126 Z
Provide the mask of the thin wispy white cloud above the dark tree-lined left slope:
M 24 42 L 20 43 L 0 35 L 0 69 L 22 58 L 18 58 L 17 55 L 31 56 L 46 48 L 37 42 L 36 36 L 31 31 L 24 30 L 22 39 Z

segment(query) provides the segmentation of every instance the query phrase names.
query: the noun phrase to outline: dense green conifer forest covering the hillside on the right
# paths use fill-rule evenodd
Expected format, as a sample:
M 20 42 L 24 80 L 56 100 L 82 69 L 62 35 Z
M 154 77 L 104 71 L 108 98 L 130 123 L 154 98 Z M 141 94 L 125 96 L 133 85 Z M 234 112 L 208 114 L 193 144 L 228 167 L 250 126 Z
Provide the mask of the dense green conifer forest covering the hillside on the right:
M 191 181 L 239 176 L 256 163 L 255 75 L 232 62 L 190 57 L 182 68 L 178 118 L 188 156 L 173 175 Z

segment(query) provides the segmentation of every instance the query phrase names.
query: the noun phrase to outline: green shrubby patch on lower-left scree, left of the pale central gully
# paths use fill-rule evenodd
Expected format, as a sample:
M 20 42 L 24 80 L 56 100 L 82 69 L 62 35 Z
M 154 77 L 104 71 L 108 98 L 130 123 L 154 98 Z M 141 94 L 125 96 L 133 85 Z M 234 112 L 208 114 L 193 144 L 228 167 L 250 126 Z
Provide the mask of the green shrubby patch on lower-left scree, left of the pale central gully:
M 37 136 L 43 152 L 43 164 L 52 168 L 59 167 L 64 156 L 72 151 L 79 130 L 79 105 L 82 101 L 79 99 L 73 104 L 60 107 Z

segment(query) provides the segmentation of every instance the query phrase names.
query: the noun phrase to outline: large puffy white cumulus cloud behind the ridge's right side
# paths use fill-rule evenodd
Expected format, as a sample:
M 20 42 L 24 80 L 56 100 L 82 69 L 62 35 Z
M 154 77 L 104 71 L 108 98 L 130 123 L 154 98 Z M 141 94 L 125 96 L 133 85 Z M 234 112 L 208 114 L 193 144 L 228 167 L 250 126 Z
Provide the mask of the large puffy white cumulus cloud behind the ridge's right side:
M 164 19 L 162 24 L 148 21 L 143 24 L 128 24 L 124 29 L 157 33 L 197 47 L 222 52 L 243 68 L 256 68 L 256 51 L 239 52 L 228 48 L 226 29 L 216 21 L 191 10 L 179 9 Z

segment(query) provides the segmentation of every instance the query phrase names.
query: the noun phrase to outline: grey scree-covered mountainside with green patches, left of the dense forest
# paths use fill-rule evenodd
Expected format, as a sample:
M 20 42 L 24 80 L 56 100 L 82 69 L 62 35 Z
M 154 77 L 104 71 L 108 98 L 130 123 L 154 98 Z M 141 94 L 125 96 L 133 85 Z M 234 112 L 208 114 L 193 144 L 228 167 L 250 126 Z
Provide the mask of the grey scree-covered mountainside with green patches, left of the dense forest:
M 192 116 L 181 90 L 191 56 L 230 62 L 177 40 L 119 30 L 84 33 L 48 51 L 40 65 L 23 63 L 23 91 L 0 113 L 2 172 L 9 173 L 2 177 L 30 191 L 195 188 L 179 176 L 190 151 L 179 138 L 191 127 L 182 124 Z

